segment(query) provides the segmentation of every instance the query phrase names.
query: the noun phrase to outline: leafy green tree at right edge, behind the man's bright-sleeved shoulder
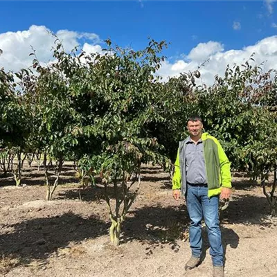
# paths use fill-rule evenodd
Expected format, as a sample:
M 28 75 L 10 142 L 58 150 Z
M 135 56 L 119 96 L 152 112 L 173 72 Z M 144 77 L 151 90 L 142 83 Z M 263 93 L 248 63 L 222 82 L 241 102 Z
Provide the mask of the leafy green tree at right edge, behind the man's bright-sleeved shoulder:
M 266 180 L 276 171 L 276 76 L 251 66 L 251 60 L 226 69 L 224 78 L 197 91 L 199 113 L 205 127 L 222 142 L 234 170 L 245 170 L 261 179 L 263 192 L 276 215 L 276 177 L 271 192 Z

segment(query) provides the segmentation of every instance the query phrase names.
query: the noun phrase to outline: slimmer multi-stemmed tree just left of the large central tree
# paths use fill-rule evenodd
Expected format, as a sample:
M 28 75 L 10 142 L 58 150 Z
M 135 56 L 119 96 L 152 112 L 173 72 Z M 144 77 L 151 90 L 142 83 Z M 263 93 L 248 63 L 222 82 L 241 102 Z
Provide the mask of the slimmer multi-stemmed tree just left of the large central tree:
M 73 147 L 78 143 L 74 130 L 78 125 L 79 115 L 72 107 L 70 80 L 65 75 L 68 64 L 64 62 L 64 58 L 68 55 L 64 51 L 60 53 L 60 47 L 61 44 L 58 43 L 53 53 L 57 62 L 53 64 L 43 67 L 35 56 L 33 67 L 39 75 L 29 80 L 30 84 L 24 95 L 33 116 L 28 146 L 29 149 L 43 153 L 47 200 L 52 199 L 57 188 L 64 159 L 72 156 Z M 50 170 L 53 170 L 55 177 L 53 184 Z

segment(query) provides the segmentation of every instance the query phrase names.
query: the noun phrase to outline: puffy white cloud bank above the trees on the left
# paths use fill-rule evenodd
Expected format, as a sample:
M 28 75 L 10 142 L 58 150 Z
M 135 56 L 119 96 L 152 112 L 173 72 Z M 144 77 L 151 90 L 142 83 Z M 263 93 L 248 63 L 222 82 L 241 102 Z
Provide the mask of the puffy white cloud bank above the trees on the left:
M 62 41 L 64 49 L 71 51 L 83 40 L 87 41 L 80 47 L 85 47 L 88 52 L 101 50 L 98 35 L 93 33 L 78 33 L 70 30 L 58 30 L 55 33 Z M 30 26 L 28 30 L 7 32 L 0 34 L 0 49 L 3 54 L 0 56 L 0 66 L 6 70 L 18 71 L 32 65 L 33 56 L 31 46 L 35 49 L 40 62 L 53 60 L 51 48 L 55 45 L 55 37 L 51 35 L 51 30 L 45 26 Z M 88 42 L 91 42 L 89 44 Z

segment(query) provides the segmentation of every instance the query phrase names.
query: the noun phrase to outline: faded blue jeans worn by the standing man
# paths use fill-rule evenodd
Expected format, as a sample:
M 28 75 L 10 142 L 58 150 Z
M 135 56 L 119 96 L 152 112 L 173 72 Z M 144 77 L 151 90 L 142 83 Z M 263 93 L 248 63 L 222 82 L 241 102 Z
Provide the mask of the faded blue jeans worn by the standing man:
M 214 266 L 223 266 L 223 247 L 218 216 L 219 197 L 208 198 L 208 188 L 189 186 L 186 195 L 186 206 L 190 216 L 190 248 L 192 255 L 200 257 L 202 253 L 202 217 L 204 217 L 210 255 Z

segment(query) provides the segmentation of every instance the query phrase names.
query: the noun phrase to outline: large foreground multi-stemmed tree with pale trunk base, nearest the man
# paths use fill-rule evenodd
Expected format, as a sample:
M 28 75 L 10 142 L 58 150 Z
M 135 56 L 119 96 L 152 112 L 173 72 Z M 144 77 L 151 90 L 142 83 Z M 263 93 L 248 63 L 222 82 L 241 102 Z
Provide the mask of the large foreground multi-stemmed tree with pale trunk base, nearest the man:
M 77 59 L 70 90 L 82 117 L 76 157 L 89 159 L 94 174 L 102 177 L 111 242 L 118 245 L 122 223 L 139 190 L 140 180 L 133 190 L 132 175 L 139 177 L 141 163 L 169 165 L 150 128 L 165 120 L 157 112 L 154 77 L 165 43 L 150 41 L 143 51 L 112 48 L 109 40 L 107 45 L 105 55 L 79 55 L 85 62 Z

